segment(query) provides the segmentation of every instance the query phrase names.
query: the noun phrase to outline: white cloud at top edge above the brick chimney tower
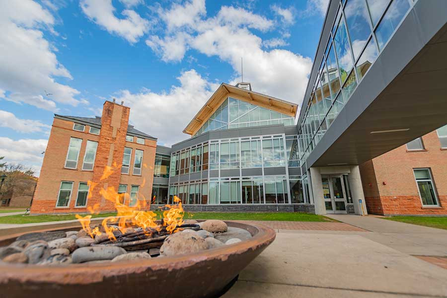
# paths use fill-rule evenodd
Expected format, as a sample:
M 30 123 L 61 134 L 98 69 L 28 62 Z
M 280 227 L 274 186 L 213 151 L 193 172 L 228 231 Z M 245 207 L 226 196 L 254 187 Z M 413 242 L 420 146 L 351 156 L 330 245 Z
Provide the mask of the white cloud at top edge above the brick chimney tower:
M 91 21 L 131 44 L 136 43 L 149 30 L 149 21 L 135 10 L 125 9 L 121 12 L 124 18 L 117 18 L 112 0 L 82 0 L 80 6 Z

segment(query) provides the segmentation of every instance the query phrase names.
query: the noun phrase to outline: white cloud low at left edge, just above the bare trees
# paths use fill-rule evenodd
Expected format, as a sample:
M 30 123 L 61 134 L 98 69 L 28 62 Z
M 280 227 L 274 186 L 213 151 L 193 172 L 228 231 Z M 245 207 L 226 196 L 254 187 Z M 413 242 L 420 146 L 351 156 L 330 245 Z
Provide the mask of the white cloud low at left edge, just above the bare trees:
M 14 141 L 9 138 L 0 137 L 0 156 L 3 161 L 21 163 L 34 170 L 36 176 L 40 173 L 43 154 L 48 140 L 44 139 L 21 139 Z

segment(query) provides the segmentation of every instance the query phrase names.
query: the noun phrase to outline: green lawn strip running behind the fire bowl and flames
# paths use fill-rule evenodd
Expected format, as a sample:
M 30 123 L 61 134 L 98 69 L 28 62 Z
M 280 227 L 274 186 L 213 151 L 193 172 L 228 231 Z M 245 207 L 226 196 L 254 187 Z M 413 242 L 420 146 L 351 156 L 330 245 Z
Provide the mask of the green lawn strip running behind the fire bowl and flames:
M 159 217 L 161 213 L 156 212 Z M 115 216 L 116 213 L 95 214 L 92 218 Z M 11 215 L 0 217 L 0 224 L 32 224 L 75 220 L 74 214 L 68 215 Z M 314 214 L 307 213 L 213 213 L 198 212 L 185 213 L 184 219 L 195 220 L 247 220 L 247 221 L 293 221 L 293 222 L 328 222 L 331 219 Z

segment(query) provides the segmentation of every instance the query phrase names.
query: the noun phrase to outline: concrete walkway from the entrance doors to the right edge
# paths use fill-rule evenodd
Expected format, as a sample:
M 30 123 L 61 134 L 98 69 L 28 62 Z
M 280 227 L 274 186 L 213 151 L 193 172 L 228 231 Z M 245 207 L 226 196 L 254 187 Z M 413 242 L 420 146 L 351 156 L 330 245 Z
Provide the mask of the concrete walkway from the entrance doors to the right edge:
M 410 255 L 447 256 L 447 230 L 387 221 L 375 216 L 328 215 L 372 233 L 364 237 Z

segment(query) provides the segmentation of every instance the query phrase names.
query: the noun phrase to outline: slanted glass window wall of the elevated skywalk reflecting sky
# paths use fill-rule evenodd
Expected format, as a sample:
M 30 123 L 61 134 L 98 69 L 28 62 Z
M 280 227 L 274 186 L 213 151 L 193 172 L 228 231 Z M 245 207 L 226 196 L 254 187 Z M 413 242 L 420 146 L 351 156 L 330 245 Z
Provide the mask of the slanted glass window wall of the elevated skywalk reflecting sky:
M 298 134 L 307 158 L 367 75 L 415 0 L 339 0 Z

